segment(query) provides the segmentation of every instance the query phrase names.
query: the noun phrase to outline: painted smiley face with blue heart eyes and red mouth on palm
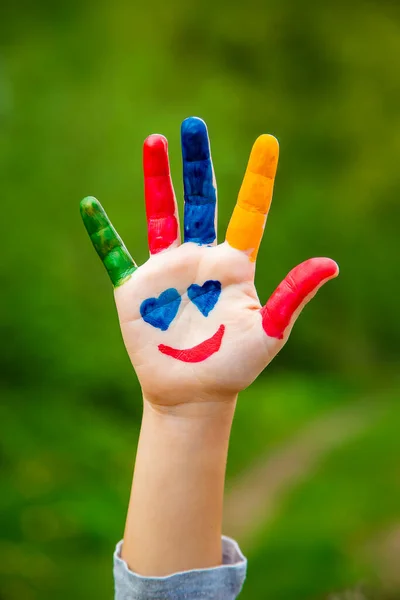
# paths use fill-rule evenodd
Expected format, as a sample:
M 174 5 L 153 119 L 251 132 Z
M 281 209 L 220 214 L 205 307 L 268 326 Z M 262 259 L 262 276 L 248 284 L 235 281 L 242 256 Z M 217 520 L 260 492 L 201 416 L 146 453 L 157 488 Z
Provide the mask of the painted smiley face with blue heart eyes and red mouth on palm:
M 199 309 L 199 311 L 208 317 L 218 302 L 221 294 L 221 282 L 209 279 L 203 285 L 193 283 L 187 289 L 188 298 Z M 166 331 L 175 319 L 179 306 L 181 304 L 181 295 L 175 288 L 168 288 L 162 292 L 158 298 L 147 298 L 140 305 L 140 314 L 143 320 Z M 176 358 L 183 362 L 201 362 L 218 352 L 221 347 L 222 338 L 225 332 L 225 325 L 220 325 L 218 330 L 210 338 L 192 348 L 178 349 L 172 346 L 159 344 L 158 349 L 162 354 Z

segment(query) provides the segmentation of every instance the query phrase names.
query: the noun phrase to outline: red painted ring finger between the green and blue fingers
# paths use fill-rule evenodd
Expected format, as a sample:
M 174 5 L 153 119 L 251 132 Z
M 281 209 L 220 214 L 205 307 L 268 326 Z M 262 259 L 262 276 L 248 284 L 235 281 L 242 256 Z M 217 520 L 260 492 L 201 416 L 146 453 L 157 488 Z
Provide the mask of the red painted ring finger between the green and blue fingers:
M 143 145 L 144 194 L 150 254 L 179 245 L 179 223 L 163 135 L 150 135 Z

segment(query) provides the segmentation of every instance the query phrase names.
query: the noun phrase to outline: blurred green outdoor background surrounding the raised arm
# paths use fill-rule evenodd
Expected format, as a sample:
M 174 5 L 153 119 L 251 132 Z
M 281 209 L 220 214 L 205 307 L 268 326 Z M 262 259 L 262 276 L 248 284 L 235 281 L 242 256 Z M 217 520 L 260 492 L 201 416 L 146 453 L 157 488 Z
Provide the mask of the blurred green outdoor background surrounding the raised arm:
M 1 600 L 112 597 L 141 415 L 112 290 L 78 203 L 147 258 L 141 152 L 208 123 L 220 238 L 248 153 L 281 144 L 259 253 L 341 275 L 242 394 L 226 533 L 241 598 L 400 598 L 400 5 L 22 0 L 1 9 Z

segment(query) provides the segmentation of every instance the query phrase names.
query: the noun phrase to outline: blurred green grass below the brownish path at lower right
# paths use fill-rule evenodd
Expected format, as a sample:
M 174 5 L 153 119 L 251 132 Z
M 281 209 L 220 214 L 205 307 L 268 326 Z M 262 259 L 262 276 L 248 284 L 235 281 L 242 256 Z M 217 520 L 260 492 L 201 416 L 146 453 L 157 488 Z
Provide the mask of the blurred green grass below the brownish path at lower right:
M 377 532 L 395 529 L 399 517 L 397 399 L 398 392 L 379 409 L 366 405 L 373 425 L 321 461 L 260 528 L 244 599 L 256 597 L 266 581 L 278 600 L 326 598 L 329 590 L 366 581 L 388 586 L 379 581 L 374 540 Z

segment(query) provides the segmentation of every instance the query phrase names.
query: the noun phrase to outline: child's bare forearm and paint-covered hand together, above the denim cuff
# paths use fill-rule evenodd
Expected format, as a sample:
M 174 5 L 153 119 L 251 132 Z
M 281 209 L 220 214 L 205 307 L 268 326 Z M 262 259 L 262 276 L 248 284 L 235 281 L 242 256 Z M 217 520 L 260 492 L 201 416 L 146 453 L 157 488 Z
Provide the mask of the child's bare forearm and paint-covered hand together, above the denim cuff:
M 181 131 L 183 231 L 185 240 L 195 241 L 180 243 L 163 136 L 144 143 L 151 253 L 144 265 L 136 268 L 96 200 L 81 203 L 85 226 L 115 287 L 124 343 L 144 400 L 122 556 L 131 569 L 152 576 L 220 564 L 225 465 L 237 395 L 282 349 L 317 290 L 338 274 L 331 259 L 309 259 L 262 307 L 254 287 L 255 260 L 272 199 L 278 143 L 269 135 L 256 140 L 226 240 L 216 245 L 207 129 L 190 118 Z M 218 282 L 220 292 L 218 284 L 206 282 Z M 211 353 L 207 343 L 214 344 Z

